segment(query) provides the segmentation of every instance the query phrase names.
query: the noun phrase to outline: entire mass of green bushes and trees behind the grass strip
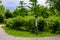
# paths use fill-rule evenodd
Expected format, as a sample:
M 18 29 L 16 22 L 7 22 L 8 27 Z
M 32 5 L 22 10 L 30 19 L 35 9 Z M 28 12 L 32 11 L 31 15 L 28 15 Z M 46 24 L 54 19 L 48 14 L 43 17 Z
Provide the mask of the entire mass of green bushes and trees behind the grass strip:
M 0 5 L 0 23 L 5 23 L 9 29 L 34 33 L 35 15 L 38 15 L 39 32 L 60 33 L 59 0 L 48 0 L 46 3 L 53 3 L 49 7 L 37 4 L 37 0 L 30 2 L 31 7 L 28 5 L 26 8 L 26 3 L 20 1 L 20 5 L 13 12 L 5 10 L 3 5 Z

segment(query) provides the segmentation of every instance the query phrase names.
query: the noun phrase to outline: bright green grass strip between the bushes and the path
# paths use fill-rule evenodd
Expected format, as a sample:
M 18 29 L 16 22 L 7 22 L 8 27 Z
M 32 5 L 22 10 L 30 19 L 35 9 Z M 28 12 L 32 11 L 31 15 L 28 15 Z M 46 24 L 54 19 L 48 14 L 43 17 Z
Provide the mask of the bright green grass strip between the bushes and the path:
M 9 30 L 9 28 L 7 28 L 5 26 L 3 26 L 2 28 L 9 35 L 20 36 L 20 37 L 50 37 L 50 36 L 60 36 L 60 34 L 53 34 L 53 33 L 49 33 L 49 32 L 43 32 L 43 33 L 39 33 L 38 35 L 35 35 L 33 33 L 26 32 L 26 31 L 16 31 L 16 30 L 11 30 L 11 29 Z

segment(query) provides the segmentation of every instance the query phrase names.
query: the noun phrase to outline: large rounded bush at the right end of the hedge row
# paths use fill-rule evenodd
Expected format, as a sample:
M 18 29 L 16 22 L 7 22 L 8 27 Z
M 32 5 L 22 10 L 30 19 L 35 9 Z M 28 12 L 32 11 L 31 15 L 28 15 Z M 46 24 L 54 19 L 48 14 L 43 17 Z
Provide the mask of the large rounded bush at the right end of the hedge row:
M 56 33 L 60 29 L 60 22 L 58 17 L 51 17 L 48 22 L 49 29 L 52 33 Z

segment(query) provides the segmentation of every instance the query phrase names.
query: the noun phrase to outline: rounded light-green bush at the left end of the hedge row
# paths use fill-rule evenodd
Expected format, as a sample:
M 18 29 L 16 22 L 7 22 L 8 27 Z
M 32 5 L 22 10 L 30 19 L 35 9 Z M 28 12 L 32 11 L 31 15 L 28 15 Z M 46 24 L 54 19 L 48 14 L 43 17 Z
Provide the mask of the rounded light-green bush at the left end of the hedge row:
M 24 19 L 21 16 L 10 18 L 6 22 L 6 26 L 11 29 L 19 30 L 21 26 L 24 25 Z

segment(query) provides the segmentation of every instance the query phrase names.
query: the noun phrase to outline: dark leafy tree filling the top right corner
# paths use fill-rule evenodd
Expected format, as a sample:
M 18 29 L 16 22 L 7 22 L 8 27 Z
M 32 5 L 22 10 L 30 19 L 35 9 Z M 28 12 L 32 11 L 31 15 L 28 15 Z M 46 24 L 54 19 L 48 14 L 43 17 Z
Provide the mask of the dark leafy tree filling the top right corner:
M 50 7 L 52 7 L 54 11 L 57 12 L 57 15 L 60 15 L 60 2 L 59 1 L 60 0 L 47 0 L 47 3 L 49 3 Z

